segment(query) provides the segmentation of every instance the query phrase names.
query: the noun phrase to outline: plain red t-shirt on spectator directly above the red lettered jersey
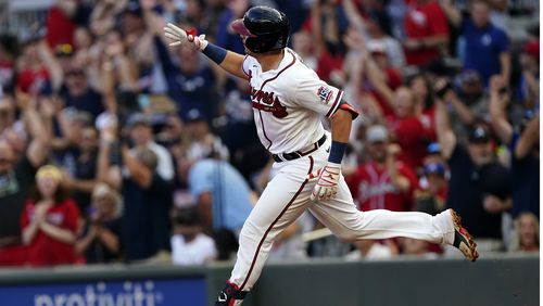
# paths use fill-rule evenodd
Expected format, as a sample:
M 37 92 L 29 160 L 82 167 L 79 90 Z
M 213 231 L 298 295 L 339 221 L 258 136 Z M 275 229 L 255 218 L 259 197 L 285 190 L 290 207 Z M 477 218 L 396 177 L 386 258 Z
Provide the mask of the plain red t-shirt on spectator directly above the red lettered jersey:
M 428 127 L 417 117 L 407 117 L 393 122 L 391 131 L 395 142 L 402 148 L 399 160 L 413 169 L 422 166 L 427 144 L 432 139 Z

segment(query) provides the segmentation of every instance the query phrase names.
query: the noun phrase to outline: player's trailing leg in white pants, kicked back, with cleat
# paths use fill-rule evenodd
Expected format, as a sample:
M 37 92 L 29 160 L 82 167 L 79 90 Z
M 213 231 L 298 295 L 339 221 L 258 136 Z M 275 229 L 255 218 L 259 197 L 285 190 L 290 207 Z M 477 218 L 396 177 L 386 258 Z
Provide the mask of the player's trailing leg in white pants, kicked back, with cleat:
M 451 209 L 435 216 L 386 209 L 359 212 L 353 203 L 345 181 L 341 179 L 337 196 L 311 206 L 310 211 L 336 235 L 345 241 L 406 237 L 452 244 L 460 248 L 468 259 L 477 258 L 475 243 Z

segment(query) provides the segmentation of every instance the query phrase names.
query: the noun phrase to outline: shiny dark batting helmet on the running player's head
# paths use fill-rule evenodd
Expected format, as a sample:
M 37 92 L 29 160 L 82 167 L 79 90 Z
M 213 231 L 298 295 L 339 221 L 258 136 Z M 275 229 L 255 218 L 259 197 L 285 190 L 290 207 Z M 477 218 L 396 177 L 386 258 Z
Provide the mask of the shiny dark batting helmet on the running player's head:
M 276 9 L 251 8 L 242 20 L 233 21 L 231 26 L 237 34 L 247 37 L 245 47 L 254 53 L 282 49 L 289 41 L 289 20 Z

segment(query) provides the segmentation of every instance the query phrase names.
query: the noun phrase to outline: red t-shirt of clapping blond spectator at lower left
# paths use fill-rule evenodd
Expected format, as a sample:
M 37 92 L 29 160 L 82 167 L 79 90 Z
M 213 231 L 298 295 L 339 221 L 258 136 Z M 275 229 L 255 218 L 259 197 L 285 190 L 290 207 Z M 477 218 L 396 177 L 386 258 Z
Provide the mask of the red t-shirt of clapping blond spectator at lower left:
M 28 201 L 21 216 L 21 228 L 25 229 L 34 218 L 36 204 Z M 79 211 L 72 200 L 64 200 L 49 208 L 47 221 L 55 227 L 76 232 Z M 28 245 L 28 264 L 31 266 L 53 266 L 73 264 L 76 259 L 75 244 L 64 243 L 38 230 Z

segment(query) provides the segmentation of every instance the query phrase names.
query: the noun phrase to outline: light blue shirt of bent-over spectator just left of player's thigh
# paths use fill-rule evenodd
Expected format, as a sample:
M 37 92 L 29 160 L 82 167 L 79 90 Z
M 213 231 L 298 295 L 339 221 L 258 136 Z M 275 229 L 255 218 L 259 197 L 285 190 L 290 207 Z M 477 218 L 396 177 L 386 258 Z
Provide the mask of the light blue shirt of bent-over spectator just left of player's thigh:
M 249 184 L 224 161 L 197 162 L 189 173 L 189 189 L 195 199 L 203 192 L 212 193 L 214 229 L 239 230 L 253 208 Z

